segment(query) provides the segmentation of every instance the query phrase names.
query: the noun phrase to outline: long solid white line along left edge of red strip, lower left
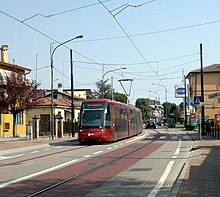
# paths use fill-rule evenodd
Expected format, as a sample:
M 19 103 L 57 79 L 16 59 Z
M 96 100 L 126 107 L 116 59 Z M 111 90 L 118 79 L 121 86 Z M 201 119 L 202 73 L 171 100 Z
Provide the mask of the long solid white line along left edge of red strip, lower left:
M 51 172 L 51 171 L 53 171 L 53 170 L 57 170 L 57 169 L 59 169 L 59 168 L 62 168 L 62 167 L 68 166 L 68 165 L 70 165 L 70 164 L 72 164 L 72 163 L 75 163 L 76 161 L 78 161 L 78 159 L 74 159 L 74 160 L 72 160 L 72 161 L 68 161 L 68 162 L 66 162 L 66 163 L 63 163 L 63 164 L 60 164 L 60 165 L 51 167 L 51 168 L 49 168 L 49 169 L 42 170 L 42 171 L 39 171 L 39 172 L 30 174 L 30 175 L 27 175 L 27 176 L 24 176 L 24 177 L 21 177 L 21 178 L 18 178 L 18 179 L 15 179 L 15 180 L 12 180 L 12 181 L 9 181 L 9 182 L 6 182 L 6 183 L 0 184 L 0 188 L 7 187 L 8 185 L 11 185 L 11 184 L 13 184 L 13 183 L 17 183 L 17 182 L 20 182 L 20 181 L 24 181 L 24 180 L 33 178 L 33 177 L 35 177 L 35 176 L 39 176 L 39 175 L 42 175 L 42 174 Z

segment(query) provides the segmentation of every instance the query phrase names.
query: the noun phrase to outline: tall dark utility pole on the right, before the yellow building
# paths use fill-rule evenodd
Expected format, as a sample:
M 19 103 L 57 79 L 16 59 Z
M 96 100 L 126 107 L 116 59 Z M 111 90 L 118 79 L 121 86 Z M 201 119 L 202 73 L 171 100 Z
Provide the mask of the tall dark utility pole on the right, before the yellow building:
M 201 64 L 201 71 L 200 71 L 200 75 L 201 75 L 201 97 L 202 100 L 201 102 L 204 102 L 204 79 L 203 79 L 203 57 L 202 57 L 202 43 L 200 43 L 200 64 Z M 202 121 L 202 135 L 205 134 L 205 109 L 204 106 L 201 106 L 202 108 L 202 116 L 201 116 L 201 120 Z

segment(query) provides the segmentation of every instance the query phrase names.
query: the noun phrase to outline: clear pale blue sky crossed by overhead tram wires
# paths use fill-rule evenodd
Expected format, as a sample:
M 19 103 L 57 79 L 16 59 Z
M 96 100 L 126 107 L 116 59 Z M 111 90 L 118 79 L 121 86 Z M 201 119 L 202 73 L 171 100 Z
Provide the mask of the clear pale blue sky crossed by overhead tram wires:
M 9 62 L 32 69 L 28 74 L 51 88 L 70 88 L 70 49 L 74 88 L 96 90 L 113 79 L 116 92 L 180 104 L 175 85 L 203 66 L 220 63 L 219 0 L 7 0 L 1 1 L 0 45 Z M 126 68 L 126 69 L 123 69 Z M 121 81 L 121 83 L 120 83 Z M 156 85 L 155 85 L 156 84 Z

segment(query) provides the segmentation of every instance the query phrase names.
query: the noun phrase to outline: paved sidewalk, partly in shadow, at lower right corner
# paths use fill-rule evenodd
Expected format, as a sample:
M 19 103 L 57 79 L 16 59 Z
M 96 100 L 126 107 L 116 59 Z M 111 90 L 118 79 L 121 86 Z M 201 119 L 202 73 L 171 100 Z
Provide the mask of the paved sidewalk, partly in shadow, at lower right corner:
M 177 196 L 220 196 L 220 140 L 209 136 L 202 136 L 199 140 L 197 132 L 189 132 L 189 135 L 195 143 L 180 177 L 182 183 Z

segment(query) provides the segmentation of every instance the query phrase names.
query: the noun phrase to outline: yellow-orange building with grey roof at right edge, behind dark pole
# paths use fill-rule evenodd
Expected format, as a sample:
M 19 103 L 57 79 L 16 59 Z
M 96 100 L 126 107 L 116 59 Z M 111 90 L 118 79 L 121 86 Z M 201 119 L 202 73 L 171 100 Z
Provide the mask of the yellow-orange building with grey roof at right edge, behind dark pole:
M 193 70 L 186 77 L 189 80 L 189 97 L 194 101 L 195 96 L 201 96 L 201 70 Z M 205 119 L 214 119 L 215 114 L 220 114 L 220 64 L 213 64 L 203 68 L 204 102 L 211 105 L 204 106 Z M 197 111 L 200 106 L 196 105 Z

